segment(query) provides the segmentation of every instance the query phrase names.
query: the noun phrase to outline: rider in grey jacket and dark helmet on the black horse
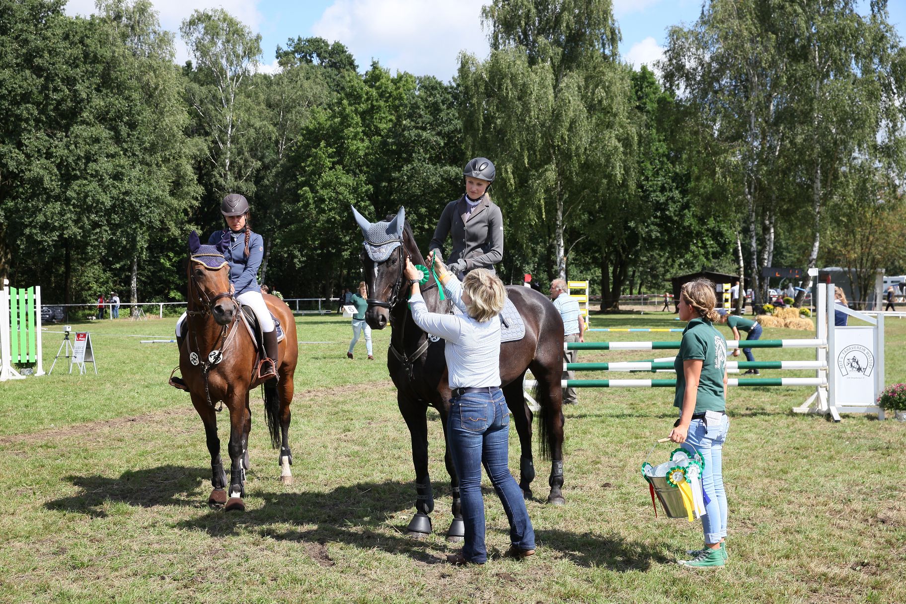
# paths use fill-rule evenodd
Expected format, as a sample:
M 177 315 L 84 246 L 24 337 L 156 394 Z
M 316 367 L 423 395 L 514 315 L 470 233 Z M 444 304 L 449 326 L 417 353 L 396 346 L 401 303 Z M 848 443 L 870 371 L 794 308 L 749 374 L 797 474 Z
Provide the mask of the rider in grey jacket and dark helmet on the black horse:
M 494 273 L 494 264 L 504 256 L 503 215 L 487 195 L 495 173 L 494 164 L 487 158 L 475 158 L 466 164 L 466 193 L 444 208 L 429 244 L 429 252 L 438 250 L 443 257 L 443 244 L 450 235 L 453 246 L 446 264 L 460 281 L 475 268 Z

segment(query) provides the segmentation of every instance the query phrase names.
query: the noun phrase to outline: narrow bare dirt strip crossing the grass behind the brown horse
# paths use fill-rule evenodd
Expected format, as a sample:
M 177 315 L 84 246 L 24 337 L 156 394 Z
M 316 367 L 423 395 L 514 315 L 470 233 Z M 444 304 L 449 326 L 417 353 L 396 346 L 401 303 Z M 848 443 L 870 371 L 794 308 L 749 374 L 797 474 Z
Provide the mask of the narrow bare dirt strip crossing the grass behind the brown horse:
M 293 405 L 304 405 L 308 403 L 324 403 L 334 399 L 348 398 L 362 392 L 373 392 L 377 388 L 391 388 L 393 382 L 385 379 L 377 382 L 366 382 L 363 384 L 348 384 L 346 386 L 336 386 L 333 388 L 316 388 L 313 390 L 304 390 L 296 392 L 293 397 Z M 252 395 L 254 404 L 255 393 Z M 0 447 L 13 445 L 30 445 L 41 443 L 47 440 L 59 440 L 71 436 L 92 436 L 101 432 L 110 431 L 112 428 L 129 426 L 133 423 L 148 424 L 166 421 L 173 417 L 194 416 L 195 407 L 186 395 L 186 404 L 183 407 L 170 407 L 149 411 L 138 416 L 113 417 L 111 419 L 99 419 L 97 421 L 86 422 L 84 424 L 75 424 L 73 426 L 52 428 L 31 432 L 29 434 L 18 434 L 13 436 L 0 436 Z

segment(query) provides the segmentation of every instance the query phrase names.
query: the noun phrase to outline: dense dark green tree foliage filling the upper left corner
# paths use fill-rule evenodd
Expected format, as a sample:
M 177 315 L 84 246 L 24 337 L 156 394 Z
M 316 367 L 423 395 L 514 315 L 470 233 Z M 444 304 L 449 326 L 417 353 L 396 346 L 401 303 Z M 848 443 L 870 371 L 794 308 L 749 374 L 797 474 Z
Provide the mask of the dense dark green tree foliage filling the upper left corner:
M 0 212 L 11 276 L 49 300 L 88 302 L 121 283 L 108 256 L 149 243 L 138 200 L 187 206 L 195 185 L 179 164 L 172 51 L 152 50 L 168 44 L 148 5 L 108 5 L 141 17 L 129 22 L 62 6 L 0 3 Z M 178 216 L 151 208 L 142 220 L 166 230 Z

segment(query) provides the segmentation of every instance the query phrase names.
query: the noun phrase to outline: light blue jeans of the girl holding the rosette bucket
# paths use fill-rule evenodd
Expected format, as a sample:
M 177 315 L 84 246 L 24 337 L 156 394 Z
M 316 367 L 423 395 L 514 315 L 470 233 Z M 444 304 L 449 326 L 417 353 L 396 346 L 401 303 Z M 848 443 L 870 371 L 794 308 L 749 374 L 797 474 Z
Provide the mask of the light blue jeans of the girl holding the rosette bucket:
M 721 416 L 719 426 L 705 427 L 704 419 L 693 419 L 689 423 L 689 434 L 686 443 L 694 446 L 705 462 L 705 472 L 701 475 L 701 485 L 708 499 L 705 506 L 708 512 L 701 517 L 701 528 L 705 532 L 706 543 L 717 543 L 727 536 L 727 493 L 724 490 L 723 447 L 727 440 L 730 420 Z M 691 447 L 683 446 L 687 450 Z

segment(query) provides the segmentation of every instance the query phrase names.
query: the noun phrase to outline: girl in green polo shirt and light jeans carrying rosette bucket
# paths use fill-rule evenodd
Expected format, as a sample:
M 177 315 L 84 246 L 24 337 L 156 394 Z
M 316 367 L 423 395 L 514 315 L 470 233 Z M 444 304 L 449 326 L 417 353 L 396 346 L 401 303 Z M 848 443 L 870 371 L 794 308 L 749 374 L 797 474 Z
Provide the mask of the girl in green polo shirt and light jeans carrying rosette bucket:
M 698 452 L 704 461 L 701 482 L 708 503 L 701 524 L 705 547 L 688 550 L 689 560 L 679 561 L 682 566 L 695 568 L 723 566 L 727 561 L 727 494 L 721 470 L 729 429 L 725 413 L 727 340 L 714 327 L 718 319 L 715 302 L 714 283 L 707 279 L 686 283 L 679 293 L 679 319 L 689 324 L 682 332 L 674 361 L 677 388 L 673 406 L 679 407 L 679 419 L 670 440 Z

